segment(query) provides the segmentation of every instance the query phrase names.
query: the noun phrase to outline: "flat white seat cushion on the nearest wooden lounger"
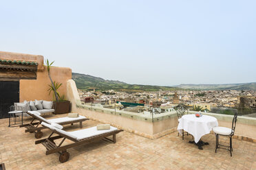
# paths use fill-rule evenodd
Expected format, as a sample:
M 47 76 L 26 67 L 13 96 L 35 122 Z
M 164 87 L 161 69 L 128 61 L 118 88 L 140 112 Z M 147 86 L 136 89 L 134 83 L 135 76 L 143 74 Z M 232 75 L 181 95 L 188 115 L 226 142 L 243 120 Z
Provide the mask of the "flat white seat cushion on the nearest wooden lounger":
M 110 126 L 110 130 L 97 130 L 97 127 L 94 126 L 94 127 L 89 127 L 87 129 L 84 129 L 84 130 L 76 130 L 74 132 L 67 132 L 67 133 L 71 134 L 72 136 L 76 136 L 77 140 L 81 140 L 83 138 L 89 138 L 89 137 L 92 137 L 92 136 L 105 134 L 105 133 L 112 132 L 112 131 L 115 131 L 115 130 L 117 130 L 117 128 L 112 127 L 112 126 Z

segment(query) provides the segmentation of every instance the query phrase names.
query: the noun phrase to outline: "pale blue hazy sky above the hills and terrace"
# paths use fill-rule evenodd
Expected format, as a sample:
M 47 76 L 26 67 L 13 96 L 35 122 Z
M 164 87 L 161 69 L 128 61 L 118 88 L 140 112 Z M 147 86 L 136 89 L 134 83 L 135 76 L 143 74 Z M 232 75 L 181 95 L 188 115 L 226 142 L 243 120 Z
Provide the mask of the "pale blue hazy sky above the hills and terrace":
M 131 84 L 256 82 L 256 1 L 0 1 L 0 51 Z

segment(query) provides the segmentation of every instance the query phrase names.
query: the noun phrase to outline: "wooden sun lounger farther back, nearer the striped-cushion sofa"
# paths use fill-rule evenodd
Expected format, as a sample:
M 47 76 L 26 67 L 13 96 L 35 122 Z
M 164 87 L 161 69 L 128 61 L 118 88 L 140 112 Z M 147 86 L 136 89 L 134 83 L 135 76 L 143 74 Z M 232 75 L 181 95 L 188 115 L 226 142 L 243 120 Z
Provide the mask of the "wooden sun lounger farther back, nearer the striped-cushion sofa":
M 41 130 L 46 129 L 46 127 L 40 126 L 40 124 L 42 122 L 51 123 L 50 121 L 54 120 L 54 119 L 44 119 L 39 114 L 33 114 L 33 112 L 28 111 L 28 114 L 33 118 L 32 121 L 28 124 L 20 125 L 19 127 L 25 127 L 26 128 L 25 132 L 30 132 L 30 133 L 34 132 L 35 138 L 41 138 L 43 136 L 43 132 L 41 132 Z M 80 123 L 80 128 L 82 128 L 83 121 L 87 121 L 87 120 L 89 120 L 89 119 L 87 119 L 86 117 L 83 117 L 82 119 L 74 119 L 72 121 L 62 121 L 62 122 L 58 121 L 56 123 L 58 123 L 60 125 L 68 125 L 68 124 L 73 125 L 73 123 Z M 36 121 L 36 122 L 34 122 L 34 121 Z

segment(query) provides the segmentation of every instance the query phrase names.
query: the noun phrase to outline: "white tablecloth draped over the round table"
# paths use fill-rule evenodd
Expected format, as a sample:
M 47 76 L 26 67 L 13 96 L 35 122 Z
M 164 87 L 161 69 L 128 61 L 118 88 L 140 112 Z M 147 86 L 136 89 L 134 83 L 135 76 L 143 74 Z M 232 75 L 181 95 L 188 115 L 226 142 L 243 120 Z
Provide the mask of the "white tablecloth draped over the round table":
M 217 119 L 208 115 L 195 117 L 195 114 L 186 114 L 180 119 L 178 132 L 182 134 L 182 129 L 194 136 L 195 143 L 200 141 L 204 134 L 209 134 L 213 127 L 218 126 Z

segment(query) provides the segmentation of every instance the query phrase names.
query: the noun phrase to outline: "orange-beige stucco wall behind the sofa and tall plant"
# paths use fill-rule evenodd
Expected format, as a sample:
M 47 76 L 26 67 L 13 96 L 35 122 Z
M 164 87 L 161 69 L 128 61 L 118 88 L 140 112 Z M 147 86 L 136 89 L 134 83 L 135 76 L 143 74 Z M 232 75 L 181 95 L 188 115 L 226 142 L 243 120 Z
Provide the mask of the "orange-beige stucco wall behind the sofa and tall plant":
M 72 70 L 70 68 L 52 66 L 50 68 L 50 75 L 52 81 L 62 83 L 58 92 L 67 98 L 67 80 L 72 79 Z M 30 101 L 34 99 L 52 101 L 53 97 L 47 91 L 49 88 L 48 84 L 50 83 L 47 66 L 44 66 L 42 71 L 37 71 L 36 80 L 20 80 L 19 101 Z

